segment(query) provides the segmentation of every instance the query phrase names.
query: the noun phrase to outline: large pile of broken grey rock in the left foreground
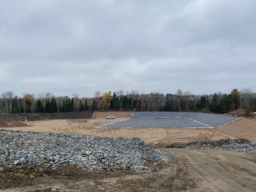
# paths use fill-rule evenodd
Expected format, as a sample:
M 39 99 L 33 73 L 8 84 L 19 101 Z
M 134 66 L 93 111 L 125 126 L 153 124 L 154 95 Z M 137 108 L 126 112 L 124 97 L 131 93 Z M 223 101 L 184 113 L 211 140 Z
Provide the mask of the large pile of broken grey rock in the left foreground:
M 76 166 L 89 171 L 149 172 L 145 162 L 168 162 L 163 152 L 139 138 L 102 138 L 0 130 L 0 171 Z

